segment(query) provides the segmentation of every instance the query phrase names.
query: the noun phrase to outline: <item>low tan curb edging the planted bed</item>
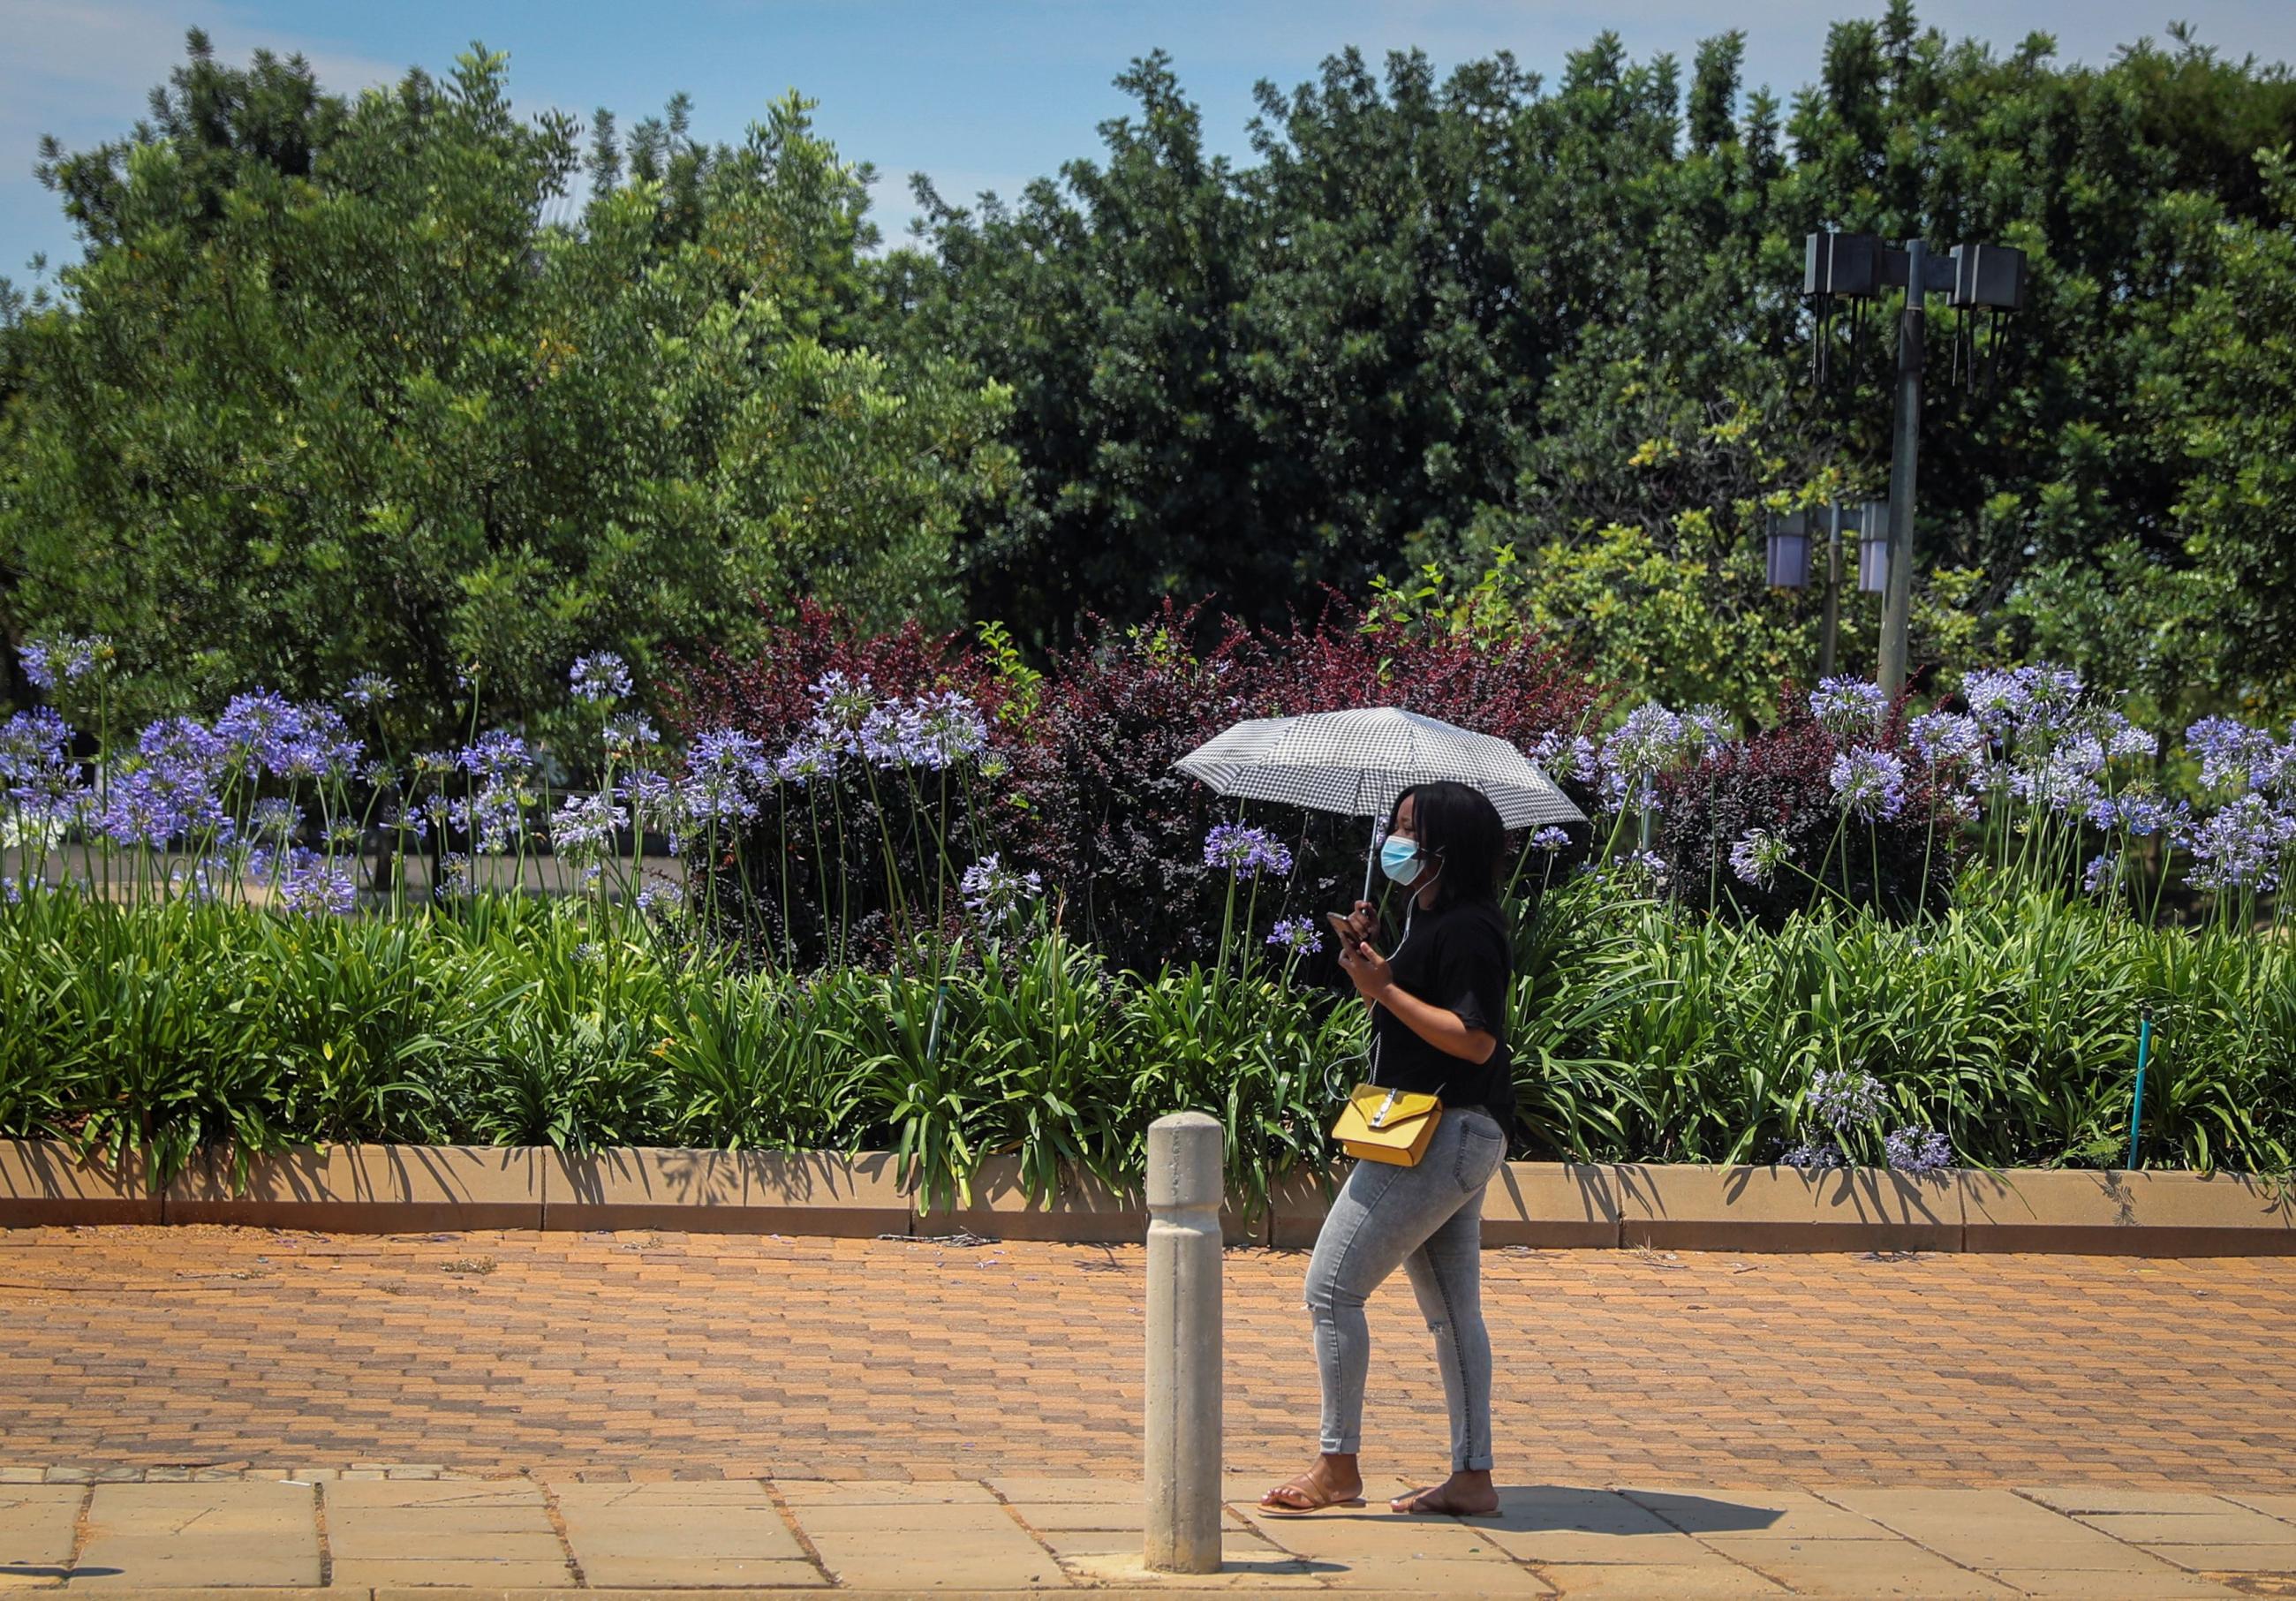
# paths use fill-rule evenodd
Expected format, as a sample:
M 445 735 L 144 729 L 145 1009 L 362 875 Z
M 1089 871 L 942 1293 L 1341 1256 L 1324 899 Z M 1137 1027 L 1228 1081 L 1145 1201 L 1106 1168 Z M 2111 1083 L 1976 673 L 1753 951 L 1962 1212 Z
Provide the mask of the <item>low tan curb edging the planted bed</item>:
M 1277 1185 L 1231 1245 L 1316 1243 L 1325 1190 Z M 0 1227 L 216 1222 L 328 1233 L 457 1229 L 687 1229 L 829 1238 L 976 1233 L 996 1240 L 1137 1243 L 1139 1194 L 1070 1181 L 1031 1201 L 1017 1158 L 992 1158 L 971 1204 L 921 1211 L 886 1153 L 540 1146 L 324 1146 L 255 1158 L 234 1188 L 202 1158 L 165 1190 L 142 1162 L 83 1167 L 62 1142 L 0 1139 Z M 2105 1256 L 2296 1254 L 2296 1185 L 2236 1174 L 1885 1169 L 1646 1162 L 1508 1162 L 1483 1197 L 1483 1243 L 1548 1250 L 2066 1252 Z

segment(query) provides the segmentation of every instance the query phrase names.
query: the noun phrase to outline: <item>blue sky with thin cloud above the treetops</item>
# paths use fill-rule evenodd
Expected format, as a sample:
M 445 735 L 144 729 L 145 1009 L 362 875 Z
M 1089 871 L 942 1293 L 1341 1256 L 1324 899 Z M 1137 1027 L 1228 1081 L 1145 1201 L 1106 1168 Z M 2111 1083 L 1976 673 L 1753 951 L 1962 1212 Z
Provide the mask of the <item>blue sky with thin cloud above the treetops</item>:
M 443 74 L 473 39 L 510 53 L 523 110 L 588 119 L 611 106 L 629 126 L 673 92 L 696 131 L 735 138 L 788 87 L 820 101 L 820 129 L 882 175 L 877 221 L 900 237 L 907 175 L 944 195 L 1013 193 L 1097 147 L 1125 110 L 1109 80 L 1150 48 L 1176 57 L 1215 149 L 1244 154 L 1258 78 L 1290 87 L 1348 44 L 1373 60 L 1421 46 L 1437 62 L 1513 51 L 1552 76 L 1568 51 L 1616 28 L 1637 57 L 1674 51 L 1729 18 L 1747 30 L 1747 80 L 1779 96 L 1816 74 L 1825 25 L 1880 0 L 0 0 L 0 273 L 78 255 L 71 227 L 32 179 L 34 142 L 85 147 L 122 133 L 181 57 L 184 30 L 218 51 L 301 51 L 328 90 Z M 1929 0 L 1922 21 L 2009 48 L 2032 30 L 2060 53 L 2103 62 L 2186 18 L 2227 55 L 2296 60 L 2296 0 Z

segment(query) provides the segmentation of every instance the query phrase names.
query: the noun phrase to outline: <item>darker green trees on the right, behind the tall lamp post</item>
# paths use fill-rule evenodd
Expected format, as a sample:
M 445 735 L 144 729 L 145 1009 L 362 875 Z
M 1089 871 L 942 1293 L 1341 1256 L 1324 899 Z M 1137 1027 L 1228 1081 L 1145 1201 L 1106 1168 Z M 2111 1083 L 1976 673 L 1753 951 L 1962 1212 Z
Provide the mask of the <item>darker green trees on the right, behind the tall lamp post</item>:
M 1678 590 L 1681 622 L 1630 618 L 1603 666 L 1671 694 L 1704 639 L 1738 682 L 1701 698 L 1763 714 L 1770 668 L 1816 657 L 1816 595 L 1761 586 L 1763 517 L 1887 478 L 1890 319 L 1809 379 L 1802 237 L 1844 227 L 2032 264 L 1998 363 L 1931 315 L 1919 551 L 1954 577 L 1922 597 L 1926 659 L 2046 634 L 2103 668 L 2167 632 L 2163 689 L 2209 657 L 2206 703 L 2296 696 L 2271 480 L 2296 432 L 2289 74 L 2181 28 L 2101 69 L 2041 34 L 1991 53 L 1906 0 L 1835 25 L 1791 106 L 1740 62 L 1738 34 L 1688 87 L 1612 34 L 1552 85 L 1506 55 L 1437 80 L 1345 53 L 1263 85 L 1256 163 L 1228 170 L 1148 57 L 1102 163 L 1015 204 L 923 188 L 889 266 L 902 326 L 1015 386 L 1022 487 L 969 526 L 976 604 L 1038 639 L 1205 590 L 1281 616 L 1313 581 L 1465 579 L 1511 547 L 1538 618 L 1603 648 L 1605 611 Z M 2158 609 L 2103 632 L 2046 600 L 2140 570 Z M 1855 600 L 1848 627 L 1862 659 Z

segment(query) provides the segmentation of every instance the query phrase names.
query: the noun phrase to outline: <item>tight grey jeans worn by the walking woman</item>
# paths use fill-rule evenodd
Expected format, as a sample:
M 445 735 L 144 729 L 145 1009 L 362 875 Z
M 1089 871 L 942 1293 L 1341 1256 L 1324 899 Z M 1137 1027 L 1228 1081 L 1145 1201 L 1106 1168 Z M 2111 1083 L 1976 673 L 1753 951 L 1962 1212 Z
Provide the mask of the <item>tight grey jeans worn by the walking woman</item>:
M 1483 1185 L 1506 1158 L 1488 1112 L 1444 1107 L 1417 1167 L 1357 1162 L 1316 1236 L 1306 1309 L 1322 1374 L 1322 1449 L 1364 1443 L 1371 1323 L 1364 1302 L 1398 1266 L 1435 1335 L 1451 1408 L 1451 1470 L 1490 1468 L 1490 1332 L 1483 1328 Z

